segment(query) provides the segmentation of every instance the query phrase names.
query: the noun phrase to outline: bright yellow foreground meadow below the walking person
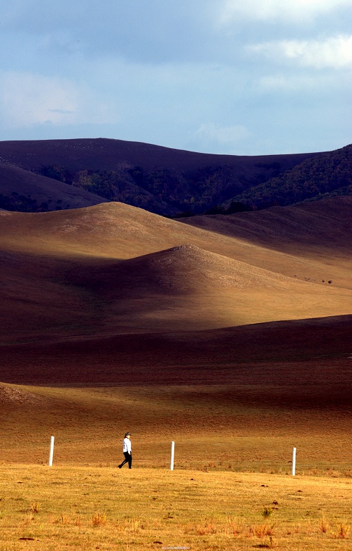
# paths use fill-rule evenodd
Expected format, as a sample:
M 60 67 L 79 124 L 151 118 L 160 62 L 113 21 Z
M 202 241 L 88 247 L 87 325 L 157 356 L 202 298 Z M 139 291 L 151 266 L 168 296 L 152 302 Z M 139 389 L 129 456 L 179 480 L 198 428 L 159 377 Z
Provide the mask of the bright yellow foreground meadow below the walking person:
M 0 550 L 349 550 L 352 480 L 92 466 L 0 468 Z

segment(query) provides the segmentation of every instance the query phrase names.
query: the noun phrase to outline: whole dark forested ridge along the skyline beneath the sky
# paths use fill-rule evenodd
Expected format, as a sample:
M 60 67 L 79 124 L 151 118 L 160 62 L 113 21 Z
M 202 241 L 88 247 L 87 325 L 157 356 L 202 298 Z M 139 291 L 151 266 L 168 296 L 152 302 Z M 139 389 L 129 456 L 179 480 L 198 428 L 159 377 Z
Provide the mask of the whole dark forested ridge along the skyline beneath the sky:
M 291 205 L 319 194 L 348 194 L 351 147 L 324 154 L 230 156 L 103 138 L 0 142 L 0 208 L 74 208 L 68 198 L 83 194 L 92 204 L 99 198 L 121 201 L 164 216 Z M 21 169 L 20 188 L 16 178 L 8 178 L 10 167 Z

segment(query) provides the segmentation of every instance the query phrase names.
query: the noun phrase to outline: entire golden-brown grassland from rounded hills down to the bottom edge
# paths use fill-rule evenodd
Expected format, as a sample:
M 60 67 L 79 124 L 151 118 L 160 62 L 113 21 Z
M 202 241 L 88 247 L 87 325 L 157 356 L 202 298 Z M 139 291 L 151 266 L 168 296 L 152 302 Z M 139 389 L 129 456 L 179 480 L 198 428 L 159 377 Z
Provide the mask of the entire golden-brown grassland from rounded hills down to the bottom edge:
M 352 201 L 318 203 L 0 211 L 0 551 L 351 548 Z

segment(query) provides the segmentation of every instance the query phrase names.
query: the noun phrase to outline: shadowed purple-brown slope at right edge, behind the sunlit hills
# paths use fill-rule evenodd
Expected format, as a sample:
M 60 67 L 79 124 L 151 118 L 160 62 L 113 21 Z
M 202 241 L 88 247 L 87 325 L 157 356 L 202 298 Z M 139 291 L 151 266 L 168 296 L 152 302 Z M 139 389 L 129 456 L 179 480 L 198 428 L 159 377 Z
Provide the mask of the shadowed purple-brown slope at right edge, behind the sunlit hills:
M 265 249 L 307 259 L 312 263 L 311 267 L 314 262 L 329 265 L 329 262 L 334 263 L 335 260 L 338 277 L 344 270 L 346 277 L 337 281 L 331 272 L 329 278 L 323 279 L 331 279 L 333 284 L 349 287 L 352 256 L 351 215 L 352 197 L 345 196 L 307 202 L 294 207 L 271 207 L 262 211 L 228 216 L 194 216 L 184 218 L 182 222 L 222 236 L 246 240 Z M 285 271 L 280 258 L 276 259 L 276 264 L 280 264 L 280 271 L 291 275 Z M 291 266 L 292 262 L 287 258 L 287 268 L 291 269 Z M 298 275 L 300 276 L 301 274 Z M 318 273 L 314 272 L 311 278 L 317 276 Z M 306 275 L 306 278 L 308 277 Z

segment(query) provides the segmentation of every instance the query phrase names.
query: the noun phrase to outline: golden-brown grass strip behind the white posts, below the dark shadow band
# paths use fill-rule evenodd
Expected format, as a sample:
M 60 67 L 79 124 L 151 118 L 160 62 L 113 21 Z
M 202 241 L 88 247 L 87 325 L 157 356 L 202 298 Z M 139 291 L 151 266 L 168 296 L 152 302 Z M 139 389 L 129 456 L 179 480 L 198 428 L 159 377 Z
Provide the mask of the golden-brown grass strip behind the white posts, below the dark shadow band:
M 282 375 L 289 380 L 288 370 Z M 6 385 L 0 461 L 48 464 L 54 435 L 55 466 L 117 466 L 130 430 L 134 468 L 166 468 L 173 440 L 177 469 L 286 475 L 295 446 L 298 475 L 352 479 L 349 410 L 300 400 L 299 387 L 269 392 L 264 382 L 251 382 L 248 368 L 243 377 L 247 385 Z M 331 388 L 327 378 L 324 384 Z

